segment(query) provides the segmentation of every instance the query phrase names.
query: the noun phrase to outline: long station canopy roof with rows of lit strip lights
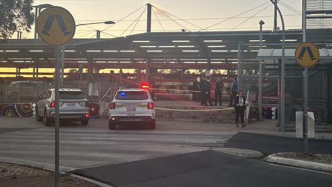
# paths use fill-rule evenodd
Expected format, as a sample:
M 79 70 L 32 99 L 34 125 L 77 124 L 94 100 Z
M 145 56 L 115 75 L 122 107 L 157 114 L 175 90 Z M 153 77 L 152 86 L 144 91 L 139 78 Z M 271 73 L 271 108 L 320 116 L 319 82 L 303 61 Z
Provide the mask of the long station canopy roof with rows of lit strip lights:
M 331 29 L 307 30 L 307 41 L 326 48 Z M 263 31 L 263 49 L 281 48 L 281 31 Z M 239 49 L 243 63 L 257 68 L 259 31 L 150 32 L 110 39 L 73 39 L 65 45 L 65 67 L 145 69 L 236 69 Z M 302 41 L 301 30 L 286 31 L 286 49 Z M 329 45 L 328 45 L 329 46 Z M 0 67 L 53 68 L 54 46 L 40 39 L 9 39 L 0 43 Z

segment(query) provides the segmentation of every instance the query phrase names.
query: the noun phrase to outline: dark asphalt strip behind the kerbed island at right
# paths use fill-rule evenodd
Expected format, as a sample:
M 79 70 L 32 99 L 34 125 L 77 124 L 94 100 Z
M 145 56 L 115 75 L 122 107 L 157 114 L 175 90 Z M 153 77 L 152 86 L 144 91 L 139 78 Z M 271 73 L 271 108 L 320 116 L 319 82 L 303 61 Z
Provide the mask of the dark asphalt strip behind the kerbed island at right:
M 303 139 L 239 132 L 224 145 L 227 148 L 250 149 L 265 155 L 303 152 Z M 332 155 L 332 141 L 309 139 L 309 152 Z

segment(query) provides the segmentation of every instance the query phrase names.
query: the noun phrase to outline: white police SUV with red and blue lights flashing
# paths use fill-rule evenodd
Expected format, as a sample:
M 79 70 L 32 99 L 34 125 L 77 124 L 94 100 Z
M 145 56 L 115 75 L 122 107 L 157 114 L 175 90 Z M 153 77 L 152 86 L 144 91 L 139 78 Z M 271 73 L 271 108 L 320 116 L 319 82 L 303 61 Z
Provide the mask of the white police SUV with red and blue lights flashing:
M 148 85 L 142 85 L 141 88 L 121 88 L 116 92 L 109 106 L 109 129 L 115 129 L 117 124 L 148 124 L 150 129 L 155 129 L 155 98 L 148 88 Z

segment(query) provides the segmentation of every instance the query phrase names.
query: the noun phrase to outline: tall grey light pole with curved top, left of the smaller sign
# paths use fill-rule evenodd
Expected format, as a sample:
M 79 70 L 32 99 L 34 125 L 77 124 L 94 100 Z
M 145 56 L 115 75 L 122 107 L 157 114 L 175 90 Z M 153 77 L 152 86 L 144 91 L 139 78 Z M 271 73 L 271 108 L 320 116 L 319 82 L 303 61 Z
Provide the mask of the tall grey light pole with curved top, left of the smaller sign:
M 284 22 L 283 22 L 283 17 L 281 14 L 280 9 L 278 8 L 277 4 L 273 0 L 270 0 L 270 2 L 275 6 L 275 8 L 278 10 L 278 13 L 280 15 L 281 19 L 281 24 L 282 24 L 282 43 L 281 43 L 281 93 L 280 93 L 280 98 L 281 98 L 281 105 L 280 105 L 280 110 L 278 109 L 278 116 L 280 116 L 280 132 L 285 131 L 285 126 L 284 126 Z

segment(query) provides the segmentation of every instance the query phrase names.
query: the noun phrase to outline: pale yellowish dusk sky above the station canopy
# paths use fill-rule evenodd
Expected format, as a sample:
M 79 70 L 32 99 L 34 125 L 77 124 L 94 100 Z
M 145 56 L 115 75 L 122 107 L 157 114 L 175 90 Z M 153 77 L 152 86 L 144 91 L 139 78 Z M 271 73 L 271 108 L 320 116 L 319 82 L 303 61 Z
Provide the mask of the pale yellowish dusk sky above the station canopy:
M 280 0 L 279 8 L 284 16 L 286 29 L 301 28 L 302 0 Z M 76 24 L 87 24 L 99 21 L 115 21 L 112 25 L 80 26 L 74 38 L 93 38 L 95 30 L 101 30 L 102 38 L 113 38 L 146 32 L 147 11 L 144 5 L 150 3 L 155 8 L 152 11 L 152 32 L 165 31 L 236 31 L 259 30 L 260 19 L 265 21 L 263 30 L 273 28 L 274 8 L 269 0 L 35 0 L 34 5 L 52 4 L 67 9 L 73 14 Z M 290 6 L 286 8 L 285 6 Z M 142 8 L 141 8 L 142 7 Z M 258 7 L 256 9 L 253 9 Z M 141 9 L 139 9 L 141 8 Z M 292 11 L 290 9 L 294 8 Z M 137 10 L 139 9 L 139 10 Z M 158 9 L 164 11 L 159 11 Z M 251 11 L 248 11 L 253 9 Z M 137 10 L 136 12 L 134 12 Z M 297 10 L 297 11 L 296 11 Z M 248 11 L 248 12 L 246 12 Z M 130 13 L 132 15 L 126 17 Z M 244 14 L 241 14 L 246 12 Z M 169 14 L 168 14 L 169 13 Z M 172 14 L 172 15 L 170 15 Z M 239 16 L 236 16 L 241 14 Z M 141 15 L 139 21 L 138 19 Z M 176 17 L 178 18 L 176 18 Z M 235 18 L 226 20 L 227 18 Z M 250 18 L 253 16 L 252 18 Z M 125 19 L 123 19 L 126 17 Z M 185 22 L 185 21 L 190 22 Z M 119 21 L 123 19 L 122 21 Z M 158 21 L 160 20 L 160 23 Z M 171 19 L 176 19 L 175 21 Z M 223 21 L 223 22 L 221 22 Z M 221 22 L 220 24 L 217 24 Z M 243 22 L 243 23 L 242 23 Z M 193 24 L 193 25 L 192 25 Z M 212 25 L 215 25 L 210 27 Z M 131 25 L 131 26 L 130 26 Z M 135 26 L 136 25 L 136 26 Z M 134 27 L 135 26 L 135 27 Z M 162 27 L 161 27 L 162 26 Z M 278 26 L 281 27 L 278 18 Z M 124 32 L 127 30 L 126 32 Z M 33 32 L 23 33 L 26 38 L 33 38 Z M 14 36 L 15 37 L 15 36 Z

